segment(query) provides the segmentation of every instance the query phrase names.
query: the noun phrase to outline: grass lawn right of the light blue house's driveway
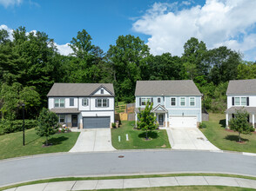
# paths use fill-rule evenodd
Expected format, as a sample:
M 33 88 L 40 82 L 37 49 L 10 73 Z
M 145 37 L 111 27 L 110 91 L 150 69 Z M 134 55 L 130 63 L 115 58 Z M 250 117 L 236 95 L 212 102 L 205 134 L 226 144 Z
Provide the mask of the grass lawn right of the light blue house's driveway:
M 241 143 L 237 132 L 225 128 L 225 114 L 210 114 L 206 128 L 200 128 L 207 139 L 222 150 L 256 153 L 256 133 L 241 135 Z

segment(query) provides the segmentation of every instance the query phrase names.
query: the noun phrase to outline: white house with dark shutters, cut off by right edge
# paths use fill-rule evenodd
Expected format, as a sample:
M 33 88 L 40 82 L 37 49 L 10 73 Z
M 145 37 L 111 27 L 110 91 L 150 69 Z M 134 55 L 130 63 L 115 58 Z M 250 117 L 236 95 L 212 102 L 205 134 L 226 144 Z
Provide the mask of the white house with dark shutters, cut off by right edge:
M 252 80 L 232 80 L 226 89 L 227 109 L 226 127 L 229 120 L 239 109 L 245 109 L 248 113 L 248 121 L 255 128 L 256 115 L 256 79 Z

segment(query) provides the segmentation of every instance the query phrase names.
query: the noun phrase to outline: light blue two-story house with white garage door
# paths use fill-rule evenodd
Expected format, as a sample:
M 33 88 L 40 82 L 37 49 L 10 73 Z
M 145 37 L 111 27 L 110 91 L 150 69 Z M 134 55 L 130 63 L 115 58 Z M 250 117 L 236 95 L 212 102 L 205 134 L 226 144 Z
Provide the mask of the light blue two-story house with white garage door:
M 138 81 L 135 97 L 136 121 L 146 102 L 153 102 L 160 128 L 197 127 L 202 121 L 202 94 L 192 80 Z

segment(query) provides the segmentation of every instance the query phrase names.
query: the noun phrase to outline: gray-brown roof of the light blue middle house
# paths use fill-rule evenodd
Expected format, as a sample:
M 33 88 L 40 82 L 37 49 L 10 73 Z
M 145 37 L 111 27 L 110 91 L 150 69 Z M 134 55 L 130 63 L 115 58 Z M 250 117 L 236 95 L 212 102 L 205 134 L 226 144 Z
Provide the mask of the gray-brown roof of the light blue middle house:
M 135 96 L 202 95 L 192 80 L 137 81 Z

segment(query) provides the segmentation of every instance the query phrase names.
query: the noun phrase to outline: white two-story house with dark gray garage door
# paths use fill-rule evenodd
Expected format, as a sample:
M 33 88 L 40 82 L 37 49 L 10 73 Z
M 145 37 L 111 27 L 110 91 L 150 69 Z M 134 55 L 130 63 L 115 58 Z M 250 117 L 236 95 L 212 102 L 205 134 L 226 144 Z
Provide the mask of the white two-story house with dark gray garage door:
M 47 97 L 48 108 L 68 127 L 110 128 L 114 122 L 111 83 L 54 83 Z

